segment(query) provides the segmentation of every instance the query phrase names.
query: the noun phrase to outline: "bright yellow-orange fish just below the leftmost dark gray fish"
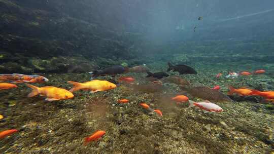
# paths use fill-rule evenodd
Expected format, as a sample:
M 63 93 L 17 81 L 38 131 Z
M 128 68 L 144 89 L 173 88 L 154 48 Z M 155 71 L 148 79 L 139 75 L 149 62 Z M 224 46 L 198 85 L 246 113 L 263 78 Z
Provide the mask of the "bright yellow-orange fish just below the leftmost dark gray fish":
M 82 90 L 90 90 L 91 93 L 96 93 L 98 91 L 105 91 L 116 88 L 116 85 L 102 80 L 92 80 L 85 83 L 77 83 L 73 81 L 68 81 L 67 83 L 72 84 L 74 87 L 70 89 L 71 92 Z

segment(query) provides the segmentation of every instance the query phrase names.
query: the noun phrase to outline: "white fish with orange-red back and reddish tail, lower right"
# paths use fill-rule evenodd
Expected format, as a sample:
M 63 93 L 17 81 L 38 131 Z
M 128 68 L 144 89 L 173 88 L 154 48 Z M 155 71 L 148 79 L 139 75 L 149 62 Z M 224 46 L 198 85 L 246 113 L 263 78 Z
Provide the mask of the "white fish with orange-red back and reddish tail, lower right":
M 223 109 L 218 106 L 217 104 L 211 103 L 211 102 L 194 102 L 192 100 L 189 100 L 189 107 L 197 106 L 198 108 L 204 110 L 205 113 L 207 112 L 221 112 Z

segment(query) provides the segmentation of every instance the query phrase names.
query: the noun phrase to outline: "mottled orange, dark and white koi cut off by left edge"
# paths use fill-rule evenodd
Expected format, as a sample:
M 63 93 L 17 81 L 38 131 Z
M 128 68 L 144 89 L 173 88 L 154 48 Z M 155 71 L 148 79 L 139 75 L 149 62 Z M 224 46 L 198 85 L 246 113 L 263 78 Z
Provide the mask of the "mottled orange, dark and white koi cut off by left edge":
M 0 81 L 10 81 L 14 83 L 44 83 L 49 80 L 40 75 L 25 75 L 25 74 L 0 74 Z

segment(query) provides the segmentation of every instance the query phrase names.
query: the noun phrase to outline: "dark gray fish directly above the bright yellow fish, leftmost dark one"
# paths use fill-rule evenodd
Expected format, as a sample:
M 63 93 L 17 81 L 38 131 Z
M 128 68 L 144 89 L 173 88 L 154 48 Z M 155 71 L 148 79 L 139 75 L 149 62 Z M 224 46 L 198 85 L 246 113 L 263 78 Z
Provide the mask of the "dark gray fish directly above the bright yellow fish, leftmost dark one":
M 112 75 L 115 76 L 116 74 L 122 74 L 126 71 L 125 67 L 121 65 L 115 65 L 111 67 L 107 67 L 101 70 L 95 70 L 91 72 L 92 78 L 96 78 L 97 76 L 100 75 Z

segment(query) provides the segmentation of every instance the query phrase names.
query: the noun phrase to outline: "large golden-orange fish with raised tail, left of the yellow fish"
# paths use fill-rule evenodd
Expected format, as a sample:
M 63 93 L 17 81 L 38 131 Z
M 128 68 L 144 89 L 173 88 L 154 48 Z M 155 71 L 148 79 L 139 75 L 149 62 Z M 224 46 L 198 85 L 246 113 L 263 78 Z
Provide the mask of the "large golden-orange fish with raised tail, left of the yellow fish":
M 33 96 L 40 94 L 40 96 L 46 96 L 47 98 L 45 100 L 47 100 L 47 101 L 70 99 L 70 98 L 74 97 L 72 92 L 65 90 L 65 89 L 52 87 L 52 86 L 46 86 L 46 87 L 39 88 L 39 87 L 29 85 L 29 84 L 26 84 L 26 85 L 27 85 L 27 87 L 32 89 L 32 92 L 27 95 L 28 97 L 33 97 Z

